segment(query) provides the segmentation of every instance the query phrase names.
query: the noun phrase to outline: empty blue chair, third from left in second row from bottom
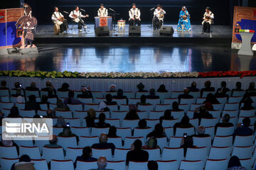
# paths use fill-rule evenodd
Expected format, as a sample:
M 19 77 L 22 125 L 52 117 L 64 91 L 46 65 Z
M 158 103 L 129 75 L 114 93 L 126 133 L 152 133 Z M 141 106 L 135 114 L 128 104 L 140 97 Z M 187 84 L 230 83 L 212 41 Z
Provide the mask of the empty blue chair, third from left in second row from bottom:
M 64 152 L 62 147 L 43 147 L 42 158 L 50 162 L 52 159 L 64 160 Z

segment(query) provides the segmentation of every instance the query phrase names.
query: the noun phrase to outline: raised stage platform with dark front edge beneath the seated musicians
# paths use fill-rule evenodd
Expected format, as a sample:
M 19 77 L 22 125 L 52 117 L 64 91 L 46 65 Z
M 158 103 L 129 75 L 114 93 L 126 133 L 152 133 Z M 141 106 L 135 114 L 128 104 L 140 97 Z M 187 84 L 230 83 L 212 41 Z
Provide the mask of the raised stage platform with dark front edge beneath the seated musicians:
M 174 30 L 176 25 L 172 26 Z M 232 28 L 230 26 L 212 26 L 211 33 L 202 34 L 201 25 L 191 26 L 189 32 L 174 31 L 173 37 L 159 35 L 159 30 L 149 28 L 149 25 L 142 25 L 140 36 L 129 36 L 129 26 L 126 24 L 125 30 L 110 30 L 109 36 L 97 37 L 94 25 L 87 25 L 88 33 L 78 32 L 78 26 L 69 25 L 68 33 L 55 35 L 53 25 L 39 25 L 36 28 L 35 43 L 197 43 L 215 44 L 230 43 L 232 38 Z

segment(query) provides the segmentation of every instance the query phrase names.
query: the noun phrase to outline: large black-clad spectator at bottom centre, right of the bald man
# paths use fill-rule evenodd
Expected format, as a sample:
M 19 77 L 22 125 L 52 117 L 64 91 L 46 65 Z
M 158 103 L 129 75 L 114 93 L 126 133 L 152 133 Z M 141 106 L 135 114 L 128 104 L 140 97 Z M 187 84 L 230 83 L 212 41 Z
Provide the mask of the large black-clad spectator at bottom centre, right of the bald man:
M 146 162 L 149 160 L 149 153 L 142 149 L 142 141 L 135 140 L 131 146 L 131 150 L 127 152 L 126 164 L 130 161 L 134 162 Z

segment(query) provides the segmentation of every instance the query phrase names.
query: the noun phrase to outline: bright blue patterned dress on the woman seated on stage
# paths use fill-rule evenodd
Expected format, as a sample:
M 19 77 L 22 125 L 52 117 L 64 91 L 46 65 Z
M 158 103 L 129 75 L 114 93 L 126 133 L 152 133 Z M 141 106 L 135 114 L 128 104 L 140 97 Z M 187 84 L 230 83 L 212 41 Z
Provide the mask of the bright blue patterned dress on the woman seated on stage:
M 187 16 L 186 19 L 183 16 Z M 191 22 L 189 19 L 188 11 L 182 11 L 179 13 L 178 27 L 176 31 L 190 31 L 191 30 Z

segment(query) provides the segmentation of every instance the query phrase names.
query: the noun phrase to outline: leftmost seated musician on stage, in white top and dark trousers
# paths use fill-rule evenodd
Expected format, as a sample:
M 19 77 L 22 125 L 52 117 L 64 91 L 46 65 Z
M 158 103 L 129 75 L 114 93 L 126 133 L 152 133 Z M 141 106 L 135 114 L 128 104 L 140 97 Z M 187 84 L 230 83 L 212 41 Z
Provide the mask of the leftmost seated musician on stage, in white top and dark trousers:
M 60 26 L 60 33 L 68 31 L 68 22 L 64 18 L 63 14 L 58 11 L 58 7 L 54 7 L 54 13 L 52 15 L 52 21 L 54 24 Z

